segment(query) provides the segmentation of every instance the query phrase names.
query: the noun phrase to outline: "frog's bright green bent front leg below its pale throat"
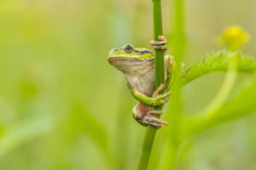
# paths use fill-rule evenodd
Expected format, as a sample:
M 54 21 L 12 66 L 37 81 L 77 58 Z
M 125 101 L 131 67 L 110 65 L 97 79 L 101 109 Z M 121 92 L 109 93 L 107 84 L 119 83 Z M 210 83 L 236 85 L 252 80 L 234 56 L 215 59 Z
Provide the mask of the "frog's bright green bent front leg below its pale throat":
M 144 105 L 149 106 L 160 106 L 164 105 L 166 101 L 168 100 L 168 96 L 170 95 L 170 92 L 166 92 L 165 94 L 159 94 L 159 92 L 164 88 L 164 84 L 161 84 L 157 90 L 155 90 L 152 97 L 148 97 L 144 94 L 141 94 L 135 90 L 135 88 L 132 88 L 130 83 L 128 83 L 128 88 L 131 91 L 132 96 L 143 103 Z

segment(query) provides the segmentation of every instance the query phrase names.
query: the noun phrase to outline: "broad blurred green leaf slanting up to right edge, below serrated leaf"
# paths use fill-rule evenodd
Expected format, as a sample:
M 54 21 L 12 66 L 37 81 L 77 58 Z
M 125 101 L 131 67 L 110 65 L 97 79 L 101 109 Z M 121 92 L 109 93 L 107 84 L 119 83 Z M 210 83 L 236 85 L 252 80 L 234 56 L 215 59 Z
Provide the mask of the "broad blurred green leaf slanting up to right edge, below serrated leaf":
M 250 95 L 248 95 L 250 94 Z M 216 127 L 225 122 L 233 121 L 241 116 L 246 116 L 256 111 L 256 78 L 253 77 L 253 82 L 247 84 L 239 94 L 233 99 L 226 101 L 218 109 L 218 113 L 209 113 L 212 115 L 203 117 L 189 117 L 184 123 L 185 131 L 183 135 L 190 137 L 195 134 L 202 133 L 209 128 Z M 241 105 L 243 103 L 243 105 Z

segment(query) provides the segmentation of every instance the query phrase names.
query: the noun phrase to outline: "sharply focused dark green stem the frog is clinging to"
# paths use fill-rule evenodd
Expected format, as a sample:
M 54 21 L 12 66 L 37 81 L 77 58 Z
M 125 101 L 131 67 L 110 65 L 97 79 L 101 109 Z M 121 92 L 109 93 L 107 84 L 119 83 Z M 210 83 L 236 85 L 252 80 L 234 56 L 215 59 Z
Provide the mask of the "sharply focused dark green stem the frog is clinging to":
M 153 3 L 153 20 L 154 20 L 154 41 L 158 41 L 158 36 L 162 35 L 162 14 L 161 1 L 152 0 Z M 164 64 L 164 50 L 154 50 L 154 65 L 155 65 L 155 88 L 158 88 L 161 83 L 165 83 L 165 64 Z M 155 110 L 161 110 L 162 107 L 156 107 Z M 146 129 L 141 156 L 139 158 L 138 170 L 146 170 L 148 168 L 148 161 L 151 154 L 152 146 L 154 144 L 154 136 L 156 127 L 148 126 Z

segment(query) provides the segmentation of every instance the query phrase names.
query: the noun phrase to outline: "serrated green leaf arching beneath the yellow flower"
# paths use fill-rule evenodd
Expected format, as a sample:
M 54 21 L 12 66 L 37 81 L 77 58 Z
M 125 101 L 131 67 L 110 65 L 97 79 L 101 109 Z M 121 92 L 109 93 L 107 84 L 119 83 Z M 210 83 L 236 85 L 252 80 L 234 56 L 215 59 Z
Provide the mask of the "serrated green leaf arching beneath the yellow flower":
M 252 58 L 241 53 L 218 51 L 208 54 L 185 71 L 182 86 L 212 72 L 224 72 L 228 70 L 230 60 L 237 59 L 237 71 L 252 73 L 256 71 L 256 63 Z

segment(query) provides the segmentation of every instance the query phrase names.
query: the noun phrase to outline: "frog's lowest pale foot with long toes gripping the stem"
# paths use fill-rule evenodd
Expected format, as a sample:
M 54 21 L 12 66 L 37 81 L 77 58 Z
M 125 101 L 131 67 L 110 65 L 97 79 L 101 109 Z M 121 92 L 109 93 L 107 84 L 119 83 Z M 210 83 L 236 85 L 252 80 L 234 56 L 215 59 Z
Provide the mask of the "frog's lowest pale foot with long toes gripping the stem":
M 161 115 L 162 113 L 163 111 L 148 111 L 148 114 L 143 117 L 143 123 L 157 127 L 158 129 L 164 125 L 168 125 L 167 122 L 155 117 L 155 115 Z

